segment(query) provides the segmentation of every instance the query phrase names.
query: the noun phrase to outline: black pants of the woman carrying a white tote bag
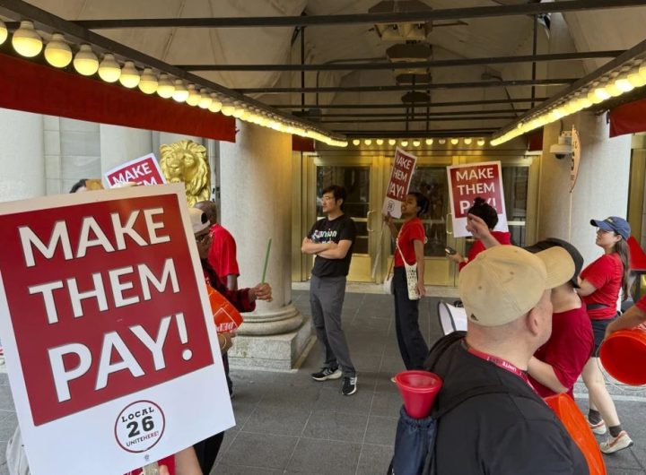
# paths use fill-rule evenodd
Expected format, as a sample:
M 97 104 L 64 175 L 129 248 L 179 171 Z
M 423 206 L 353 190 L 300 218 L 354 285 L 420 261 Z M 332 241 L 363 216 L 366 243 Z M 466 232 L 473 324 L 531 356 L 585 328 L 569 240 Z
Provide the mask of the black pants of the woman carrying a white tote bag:
M 395 290 L 395 328 L 397 344 L 406 369 L 423 369 L 428 346 L 419 329 L 419 300 L 408 298 L 406 270 L 396 267 L 393 276 Z

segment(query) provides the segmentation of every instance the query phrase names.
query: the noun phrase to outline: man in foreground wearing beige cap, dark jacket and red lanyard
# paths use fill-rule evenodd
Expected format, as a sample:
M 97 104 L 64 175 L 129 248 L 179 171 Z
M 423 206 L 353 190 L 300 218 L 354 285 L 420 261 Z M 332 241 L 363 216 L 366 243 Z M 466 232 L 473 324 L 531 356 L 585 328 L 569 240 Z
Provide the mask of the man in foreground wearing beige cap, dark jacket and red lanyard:
M 527 376 L 529 358 L 552 330 L 551 289 L 573 273 L 572 257 L 562 247 L 532 255 L 516 246 L 487 249 L 460 272 L 467 334 L 442 338 L 424 365 L 443 380 L 435 410 L 470 389 L 501 389 L 473 396 L 439 419 L 436 473 L 589 473 L 578 446 Z

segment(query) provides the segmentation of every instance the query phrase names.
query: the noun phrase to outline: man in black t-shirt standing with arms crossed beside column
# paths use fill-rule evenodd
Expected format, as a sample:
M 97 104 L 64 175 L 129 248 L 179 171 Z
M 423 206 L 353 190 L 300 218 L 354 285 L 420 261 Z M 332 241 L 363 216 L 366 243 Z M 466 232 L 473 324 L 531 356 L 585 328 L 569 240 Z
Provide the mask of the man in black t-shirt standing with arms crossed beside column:
M 341 209 L 344 201 L 342 186 L 328 186 L 323 190 L 321 202 L 326 218 L 314 223 L 302 241 L 301 252 L 315 255 L 310 305 L 317 338 L 325 354 L 324 366 L 311 376 L 315 381 L 343 376 L 341 392 L 349 396 L 356 393 L 357 376 L 341 328 L 341 309 L 356 228 L 354 220 Z

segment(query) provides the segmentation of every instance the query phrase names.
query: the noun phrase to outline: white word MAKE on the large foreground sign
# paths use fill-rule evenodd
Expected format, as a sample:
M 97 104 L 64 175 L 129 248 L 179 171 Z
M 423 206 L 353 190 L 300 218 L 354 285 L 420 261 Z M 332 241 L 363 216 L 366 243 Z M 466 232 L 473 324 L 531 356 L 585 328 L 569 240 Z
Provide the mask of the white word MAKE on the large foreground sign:
M 114 252 L 115 250 L 122 251 L 126 249 L 126 235 L 132 238 L 139 246 L 151 246 L 153 244 L 160 244 L 170 241 L 170 236 L 160 235 L 159 230 L 164 228 L 163 221 L 154 220 L 155 216 L 163 214 L 162 208 L 153 208 L 144 210 L 144 223 L 148 232 L 148 241 L 142 238 L 133 228 L 135 221 L 139 216 L 139 211 L 132 212 L 123 225 L 115 213 L 111 215 L 112 230 L 115 234 L 114 245 L 109 242 L 105 232 L 100 229 L 99 224 L 92 218 L 83 218 L 81 235 L 76 245 L 76 252 L 72 253 L 72 243 L 70 241 L 69 233 L 67 231 L 67 223 L 65 221 L 57 221 L 49 236 L 48 244 L 45 245 L 43 239 L 34 233 L 28 226 L 18 228 L 22 243 L 22 253 L 25 258 L 27 267 L 36 265 L 34 259 L 34 247 L 39 251 L 39 254 L 46 259 L 51 259 L 57 251 L 58 246 L 62 247 L 63 257 L 66 261 L 74 257 L 83 257 L 87 253 L 88 247 L 101 246 L 106 252 Z M 115 249 L 116 245 L 116 249 Z

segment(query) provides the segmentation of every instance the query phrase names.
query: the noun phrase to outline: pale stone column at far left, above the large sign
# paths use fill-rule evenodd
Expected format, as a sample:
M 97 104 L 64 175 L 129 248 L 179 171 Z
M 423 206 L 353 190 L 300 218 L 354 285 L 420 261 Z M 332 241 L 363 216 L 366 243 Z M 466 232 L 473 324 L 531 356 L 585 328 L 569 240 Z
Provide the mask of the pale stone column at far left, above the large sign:
M 43 116 L 0 108 L 0 124 L 0 202 L 46 194 Z

